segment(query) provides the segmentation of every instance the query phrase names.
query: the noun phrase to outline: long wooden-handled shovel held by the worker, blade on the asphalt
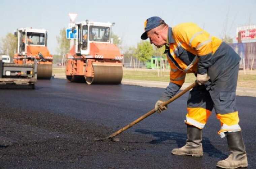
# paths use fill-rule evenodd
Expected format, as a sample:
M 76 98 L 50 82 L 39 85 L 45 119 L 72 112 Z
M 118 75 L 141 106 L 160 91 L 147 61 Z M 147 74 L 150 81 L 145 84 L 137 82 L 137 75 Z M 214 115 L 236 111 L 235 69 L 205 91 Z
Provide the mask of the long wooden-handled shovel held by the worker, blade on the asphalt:
M 187 88 L 185 88 L 184 90 L 182 90 L 181 92 L 179 92 L 178 94 L 174 95 L 171 99 L 167 100 L 166 102 L 163 102 L 161 106 L 165 106 L 169 103 L 171 103 L 172 101 L 176 100 L 177 98 L 179 98 L 180 96 L 182 96 L 184 93 L 186 93 L 187 91 L 189 91 L 190 89 L 192 89 L 193 87 L 195 87 L 197 85 L 197 82 L 195 81 L 194 83 L 192 83 L 191 85 L 189 85 Z M 128 124 L 127 126 L 121 128 L 120 130 L 116 131 L 113 134 L 110 134 L 107 137 L 104 138 L 95 138 L 95 140 L 106 140 L 106 139 L 111 139 L 115 136 L 117 136 L 118 134 L 122 133 L 123 131 L 127 130 L 128 128 L 134 126 L 135 124 L 137 124 L 138 122 L 142 121 L 143 119 L 149 117 L 150 115 L 154 114 L 156 111 L 155 109 L 152 109 L 151 111 L 149 111 L 148 113 L 146 113 L 145 115 L 141 116 L 140 118 L 134 120 L 133 122 L 131 122 L 130 124 Z

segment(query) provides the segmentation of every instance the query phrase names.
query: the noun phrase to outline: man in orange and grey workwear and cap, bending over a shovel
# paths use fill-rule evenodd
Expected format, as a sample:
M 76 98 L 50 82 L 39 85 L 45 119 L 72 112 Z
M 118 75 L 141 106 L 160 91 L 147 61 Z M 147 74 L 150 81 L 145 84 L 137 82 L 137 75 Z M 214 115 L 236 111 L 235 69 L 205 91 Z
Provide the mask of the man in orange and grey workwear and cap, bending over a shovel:
M 186 73 L 194 73 L 199 85 L 194 87 L 187 101 L 186 144 L 173 149 L 174 155 L 203 156 L 202 129 L 213 108 L 221 129 L 218 134 L 227 137 L 230 155 L 217 163 L 221 168 L 247 167 L 247 155 L 235 107 L 235 91 L 240 57 L 221 39 L 194 23 L 169 27 L 160 17 L 150 17 L 144 24 L 142 40 L 150 39 L 158 48 L 165 46 L 170 64 L 170 83 L 155 104 L 158 113 L 161 106 L 173 97 L 184 83 Z

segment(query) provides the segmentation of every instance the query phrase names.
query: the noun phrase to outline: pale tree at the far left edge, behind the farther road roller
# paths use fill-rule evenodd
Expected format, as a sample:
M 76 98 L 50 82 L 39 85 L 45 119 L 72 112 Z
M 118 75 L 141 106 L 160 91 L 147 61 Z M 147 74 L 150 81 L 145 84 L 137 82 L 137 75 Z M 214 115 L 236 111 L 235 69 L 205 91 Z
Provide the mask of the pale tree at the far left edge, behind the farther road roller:
M 8 33 L 4 38 L 1 39 L 1 53 L 13 57 L 16 53 L 17 48 L 17 37 L 12 33 Z

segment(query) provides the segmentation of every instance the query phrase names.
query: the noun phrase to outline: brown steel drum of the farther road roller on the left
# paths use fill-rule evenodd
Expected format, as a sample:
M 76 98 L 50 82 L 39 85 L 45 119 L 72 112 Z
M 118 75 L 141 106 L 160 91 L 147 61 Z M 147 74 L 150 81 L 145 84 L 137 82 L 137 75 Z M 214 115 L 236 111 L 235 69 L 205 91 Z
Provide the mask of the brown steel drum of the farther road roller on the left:
M 37 65 L 37 79 L 51 79 L 53 73 L 52 64 Z

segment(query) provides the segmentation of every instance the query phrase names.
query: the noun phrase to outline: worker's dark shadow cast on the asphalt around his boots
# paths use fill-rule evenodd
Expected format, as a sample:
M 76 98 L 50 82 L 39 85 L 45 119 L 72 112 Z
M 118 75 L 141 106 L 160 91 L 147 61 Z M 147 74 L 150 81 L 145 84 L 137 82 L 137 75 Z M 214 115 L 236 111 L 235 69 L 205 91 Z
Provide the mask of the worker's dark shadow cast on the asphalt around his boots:
M 187 139 L 187 134 L 177 132 L 150 131 L 145 129 L 136 129 L 135 132 L 141 134 L 150 134 L 156 137 L 156 139 L 149 142 L 151 144 L 160 144 L 164 143 L 166 140 L 174 140 L 178 145 L 177 147 L 182 147 L 186 144 Z M 228 157 L 226 154 L 223 154 L 220 150 L 216 149 L 209 138 L 203 137 L 202 144 L 203 152 L 207 153 L 209 157 L 218 159 L 225 159 Z

